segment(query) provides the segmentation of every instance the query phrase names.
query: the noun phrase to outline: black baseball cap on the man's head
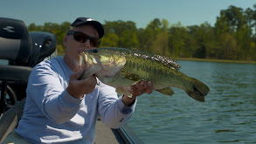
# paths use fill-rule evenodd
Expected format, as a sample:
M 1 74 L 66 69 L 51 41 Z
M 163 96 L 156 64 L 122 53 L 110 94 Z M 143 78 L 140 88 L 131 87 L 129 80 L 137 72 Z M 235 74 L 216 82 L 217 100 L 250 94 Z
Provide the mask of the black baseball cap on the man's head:
M 93 18 L 90 17 L 78 17 L 73 24 L 71 24 L 70 26 L 78 26 L 80 24 L 90 24 L 93 25 L 93 27 L 97 30 L 98 34 L 99 34 L 99 38 L 102 38 L 104 35 L 104 28 L 103 26 L 100 24 L 100 22 L 95 21 Z

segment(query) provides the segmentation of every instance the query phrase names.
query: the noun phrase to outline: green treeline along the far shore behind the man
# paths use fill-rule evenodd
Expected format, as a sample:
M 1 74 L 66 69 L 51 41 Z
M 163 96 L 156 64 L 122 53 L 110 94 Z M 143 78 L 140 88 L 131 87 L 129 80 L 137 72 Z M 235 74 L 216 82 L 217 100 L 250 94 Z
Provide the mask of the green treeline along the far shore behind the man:
M 62 39 L 71 23 L 30 24 L 29 31 L 47 31 L 57 38 L 58 53 L 64 53 Z M 216 23 L 183 26 L 155 18 L 145 28 L 132 21 L 105 21 L 100 47 L 124 47 L 172 58 L 217 58 L 256 61 L 256 4 L 253 10 L 229 6 L 221 10 Z

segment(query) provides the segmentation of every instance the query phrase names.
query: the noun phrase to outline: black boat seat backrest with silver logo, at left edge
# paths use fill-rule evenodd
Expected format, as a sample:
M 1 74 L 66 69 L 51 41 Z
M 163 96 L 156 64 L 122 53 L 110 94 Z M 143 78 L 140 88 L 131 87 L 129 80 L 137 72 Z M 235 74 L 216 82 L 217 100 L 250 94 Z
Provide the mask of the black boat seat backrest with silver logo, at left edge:
M 23 65 L 31 54 L 31 37 L 23 21 L 0 17 L 0 58 Z

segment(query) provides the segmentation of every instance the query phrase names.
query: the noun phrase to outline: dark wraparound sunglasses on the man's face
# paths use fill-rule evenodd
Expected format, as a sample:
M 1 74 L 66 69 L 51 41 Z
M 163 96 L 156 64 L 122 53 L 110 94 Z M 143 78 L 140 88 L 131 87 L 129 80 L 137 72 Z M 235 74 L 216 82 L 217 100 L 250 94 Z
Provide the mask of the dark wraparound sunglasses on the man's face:
M 80 43 L 85 43 L 86 40 L 89 39 L 90 45 L 93 47 L 98 47 L 100 45 L 100 38 L 90 37 L 80 31 L 71 31 L 71 32 L 67 33 L 67 35 L 73 35 L 73 38 Z

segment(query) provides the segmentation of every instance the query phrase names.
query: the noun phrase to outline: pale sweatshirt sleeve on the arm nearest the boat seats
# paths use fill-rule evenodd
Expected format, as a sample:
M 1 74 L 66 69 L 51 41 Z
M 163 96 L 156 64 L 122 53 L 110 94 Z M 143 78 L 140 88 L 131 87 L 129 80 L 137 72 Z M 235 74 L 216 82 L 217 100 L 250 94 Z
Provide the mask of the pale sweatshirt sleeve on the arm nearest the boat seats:
M 45 116 L 56 123 L 71 120 L 79 111 L 82 99 L 76 99 L 63 87 L 59 74 L 49 63 L 38 64 L 31 72 L 27 86 L 31 96 Z

